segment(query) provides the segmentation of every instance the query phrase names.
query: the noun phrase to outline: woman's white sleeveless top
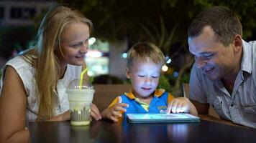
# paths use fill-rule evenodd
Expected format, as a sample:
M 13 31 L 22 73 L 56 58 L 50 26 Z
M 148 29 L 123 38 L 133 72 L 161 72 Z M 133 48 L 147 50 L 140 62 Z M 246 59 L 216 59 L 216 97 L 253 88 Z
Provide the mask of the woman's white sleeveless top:
M 36 95 L 36 82 L 35 82 L 35 68 L 33 68 L 27 61 L 25 61 L 21 56 L 16 56 L 13 59 L 7 61 L 3 68 L 3 74 L 6 69 L 6 66 L 12 66 L 19 77 L 22 79 L 24 84 L 24 89 L 27 92 L 27 112 L 26 112 L 26 121 L 33 122 L 37 119 L 37 113 L 39 108 L 39 102 L 37 101 Z M 55 116 L 58 114 L 63 114 L 63 112 L 68 111 L 69 102 L 66 89 L 68 84 L 73 79 L 78 79 L 81 74 L 82 66 L 73 66 L 68 64 L 68 67 L 65 71 L 63 79 L 60 79 L 57 84 L 58 90 L 58 104 L 55 105 L 54 113 Z M 3 77 L 0 81 L 0 92 L 1 87 L 3 87 Z

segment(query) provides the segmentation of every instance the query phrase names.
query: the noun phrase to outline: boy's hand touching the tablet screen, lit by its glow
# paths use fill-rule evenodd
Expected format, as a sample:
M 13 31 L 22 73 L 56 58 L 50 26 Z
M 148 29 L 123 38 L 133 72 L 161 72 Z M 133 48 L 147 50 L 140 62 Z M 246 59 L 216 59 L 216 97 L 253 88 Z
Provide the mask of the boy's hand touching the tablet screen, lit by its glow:
M 171 100 L 168 104 L 167 112 L 186 112 L 197 116 L 196 107 L 186 97 L 177 97 Z

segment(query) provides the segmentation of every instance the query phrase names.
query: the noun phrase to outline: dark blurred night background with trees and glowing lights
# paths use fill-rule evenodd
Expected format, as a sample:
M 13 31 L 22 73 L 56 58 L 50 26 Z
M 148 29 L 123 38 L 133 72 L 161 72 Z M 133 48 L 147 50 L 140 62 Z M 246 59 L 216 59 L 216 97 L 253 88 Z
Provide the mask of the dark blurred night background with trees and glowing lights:
M 188 25 L 211 6 L 232 9 L 242 21 L 243 39 L 256 39 L 255 0 L 0 0 L 0 69 L 6 60 L 35 45 L 42 17 L 56 4 L 72 6 L 93 21 L 85 60 L 94 84 L 127 83 L 126 52 L 139 41 L 151 41 L 167 61 L 160 87 L 179 95 L 193 64 Z

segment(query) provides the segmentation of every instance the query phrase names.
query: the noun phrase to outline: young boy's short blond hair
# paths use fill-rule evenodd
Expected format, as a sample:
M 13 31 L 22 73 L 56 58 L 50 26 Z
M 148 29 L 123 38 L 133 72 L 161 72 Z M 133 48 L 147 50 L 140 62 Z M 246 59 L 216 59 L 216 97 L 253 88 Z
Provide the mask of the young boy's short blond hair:
M 152 61 L 155 64 L 165 64 L 165 56 L 163 52 L 150 42 L 140 42 L 134 44 L 127 53 L 127 67 L 137 62 Z

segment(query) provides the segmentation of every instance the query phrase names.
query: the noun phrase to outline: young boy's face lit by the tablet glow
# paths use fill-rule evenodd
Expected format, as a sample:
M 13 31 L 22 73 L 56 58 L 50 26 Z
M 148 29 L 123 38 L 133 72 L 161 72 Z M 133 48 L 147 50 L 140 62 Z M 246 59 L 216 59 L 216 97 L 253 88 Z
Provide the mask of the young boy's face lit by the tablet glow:
M 138 62 L 127 68 L 127 78 L 132 82 L 132 92 L 135 97 L 146 98 L 157 88 L 161 64 L 152 61 Z

